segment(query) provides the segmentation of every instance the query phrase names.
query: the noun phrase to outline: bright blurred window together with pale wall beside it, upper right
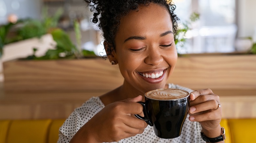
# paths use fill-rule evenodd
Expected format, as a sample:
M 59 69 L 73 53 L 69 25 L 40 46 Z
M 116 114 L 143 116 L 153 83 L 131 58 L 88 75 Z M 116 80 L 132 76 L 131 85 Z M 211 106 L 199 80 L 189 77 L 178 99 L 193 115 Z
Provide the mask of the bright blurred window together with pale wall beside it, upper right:
M 247 51 L 256 36 L 255 0 L 175 0 L 181 23 L 189 14 L 200 17 L 190 23 L 180 53 L 228 53 Z M 247 39 L 247 40 L 246 40 Z M 247 46 L 249 45 L 249 46 Z

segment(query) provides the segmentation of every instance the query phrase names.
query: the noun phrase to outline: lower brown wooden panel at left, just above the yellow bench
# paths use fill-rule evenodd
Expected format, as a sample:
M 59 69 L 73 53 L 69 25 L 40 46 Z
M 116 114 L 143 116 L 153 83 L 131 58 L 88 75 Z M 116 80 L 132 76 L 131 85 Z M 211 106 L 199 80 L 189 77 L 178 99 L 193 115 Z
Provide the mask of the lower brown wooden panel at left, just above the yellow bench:
M 101 92 L 5 93 L 0 119 L 66 119 L 75 108 Z

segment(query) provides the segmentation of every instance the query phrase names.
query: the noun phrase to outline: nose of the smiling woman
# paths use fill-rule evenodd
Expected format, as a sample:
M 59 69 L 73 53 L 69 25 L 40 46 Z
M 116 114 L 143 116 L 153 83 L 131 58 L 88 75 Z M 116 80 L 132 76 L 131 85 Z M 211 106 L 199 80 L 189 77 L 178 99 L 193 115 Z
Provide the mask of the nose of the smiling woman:
M 151 48 L 148 50 L 144 61 L 146 64 L 158 66 L 163 61 L 163 57 L 158 48 Z

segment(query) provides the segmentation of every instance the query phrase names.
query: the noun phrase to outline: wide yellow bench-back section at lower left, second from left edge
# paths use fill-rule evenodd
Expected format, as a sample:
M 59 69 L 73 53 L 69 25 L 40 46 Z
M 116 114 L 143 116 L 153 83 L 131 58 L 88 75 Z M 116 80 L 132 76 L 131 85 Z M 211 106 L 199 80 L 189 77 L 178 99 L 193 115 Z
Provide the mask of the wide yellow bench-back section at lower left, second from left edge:
M 13 120 L 7 136 L 7 143 L 47 143 L 51 119 Z

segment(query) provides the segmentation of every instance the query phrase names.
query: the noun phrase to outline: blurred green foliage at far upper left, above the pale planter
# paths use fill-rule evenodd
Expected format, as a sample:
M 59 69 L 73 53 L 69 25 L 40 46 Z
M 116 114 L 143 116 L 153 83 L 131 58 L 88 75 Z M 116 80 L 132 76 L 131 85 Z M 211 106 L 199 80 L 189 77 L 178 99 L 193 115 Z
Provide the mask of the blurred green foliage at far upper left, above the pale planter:
M 57 27 L 63 10 L 59 8 L 53 16 L 48 16 L 47 8 L 44 8 L 42 13 L 42 20 L 23 19 L 15 24 L 8 23 L 0 26 L 0 58 L 3 55 L 4 45 L 33 37 L 40 38 L 52 28 Z

